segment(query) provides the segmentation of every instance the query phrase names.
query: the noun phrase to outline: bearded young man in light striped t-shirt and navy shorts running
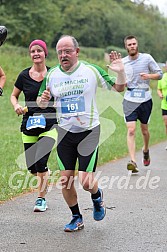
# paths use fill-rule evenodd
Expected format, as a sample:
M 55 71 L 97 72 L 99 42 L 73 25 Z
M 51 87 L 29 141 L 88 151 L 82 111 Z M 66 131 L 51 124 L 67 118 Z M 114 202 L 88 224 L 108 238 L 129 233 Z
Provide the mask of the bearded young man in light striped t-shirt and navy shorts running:
M 127 77 L 127 91 L 124 95 L 123 110 L 127 126 L 127 145 L 130 161 L 127 169 L 133 173 L 138 172 L 135 157 L 135 131 L 136 121 L 140 121 L 143 136 L 143 164 L 150 164 L 149 155 L 149 130 L 148 123 L 152 111 L 152 97 L 149 90 L 150 80 L 162 78 L 162 70 L 153 57 L 147 53 L 139 53 L 138 41 L 135 36 L 127 36 L 124 39 L 128 56 L 123 58 Z

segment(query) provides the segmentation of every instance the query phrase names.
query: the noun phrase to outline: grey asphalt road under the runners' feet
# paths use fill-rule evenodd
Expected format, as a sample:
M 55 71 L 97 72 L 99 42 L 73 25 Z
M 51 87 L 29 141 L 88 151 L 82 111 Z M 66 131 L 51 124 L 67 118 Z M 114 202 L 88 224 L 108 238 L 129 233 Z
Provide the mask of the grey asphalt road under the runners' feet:
M 47 194 L 48 210 L 34 213 L 37 192 L 0 205 L 1 252 L 163 252 L 167 251 L 167 142 L 150 148 L 151 164 L 140 172 L 126 170 L 128 156 L 98 167 L 96 176 L 103 188 L 106 217 L 92 217 L 90 194 L 78 184 L 78 200 L 84 229 L 66 233 L 71 219 L 58 185 Z

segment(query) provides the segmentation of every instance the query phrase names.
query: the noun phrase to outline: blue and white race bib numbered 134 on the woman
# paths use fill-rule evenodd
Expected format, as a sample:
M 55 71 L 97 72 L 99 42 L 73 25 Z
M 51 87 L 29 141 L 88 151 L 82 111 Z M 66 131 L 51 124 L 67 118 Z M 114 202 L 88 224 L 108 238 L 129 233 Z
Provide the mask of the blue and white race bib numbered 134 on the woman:
M 46 119 L 43 115 L 40 116 L 29 116 L 26 124 L 26 129 L 35 129 L 35 128 L 45 128 Z

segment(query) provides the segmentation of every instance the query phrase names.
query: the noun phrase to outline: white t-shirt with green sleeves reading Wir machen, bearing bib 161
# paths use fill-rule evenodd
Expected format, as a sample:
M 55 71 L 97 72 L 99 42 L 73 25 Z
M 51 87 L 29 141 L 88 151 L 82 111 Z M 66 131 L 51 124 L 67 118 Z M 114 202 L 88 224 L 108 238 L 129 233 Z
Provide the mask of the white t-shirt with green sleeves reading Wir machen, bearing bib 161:
M 115 77 L 87 62 L 79 62 L 73 72 L 65 72 L 58 65 L 49 71 L 39 95 L 49 86 L 59 126 L 70 132 L 82 132 L 100 124 L 95 97 L 97 87 L 108 88 L 114 83 Z

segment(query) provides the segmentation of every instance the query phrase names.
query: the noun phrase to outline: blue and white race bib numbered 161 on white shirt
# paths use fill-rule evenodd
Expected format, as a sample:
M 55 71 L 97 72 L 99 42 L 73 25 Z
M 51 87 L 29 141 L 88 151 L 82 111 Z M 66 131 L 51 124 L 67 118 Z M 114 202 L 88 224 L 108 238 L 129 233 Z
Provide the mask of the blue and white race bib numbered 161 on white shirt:
M 70 114 L 83 114 L 85 112 L 85 99 L 83 96 L 62 98 L 61 99 L 61 113 L 64 116 Z

